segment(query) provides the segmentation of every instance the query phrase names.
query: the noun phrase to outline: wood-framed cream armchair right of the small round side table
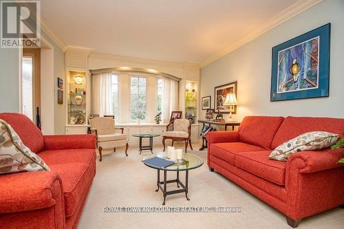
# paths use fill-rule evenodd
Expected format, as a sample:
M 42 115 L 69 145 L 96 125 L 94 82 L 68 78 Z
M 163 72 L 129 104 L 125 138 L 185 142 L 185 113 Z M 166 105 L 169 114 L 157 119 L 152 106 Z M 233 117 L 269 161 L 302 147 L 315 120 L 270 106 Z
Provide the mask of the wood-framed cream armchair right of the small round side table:
M 172 131 L 169 131 L 170 125 L 173 125 Z M 191 122 L 187 119 L 176 119 L 167 124 L 166 131 L 162 133 L 162 144 L 164 145 L 165 151 L 165 140 L 171 139 L 172 146 L 174 141 L 185 141 L 185 153 L 188 148 L 188 143 L 190 144 L 191 150 L 193 146 L 191 145 Z

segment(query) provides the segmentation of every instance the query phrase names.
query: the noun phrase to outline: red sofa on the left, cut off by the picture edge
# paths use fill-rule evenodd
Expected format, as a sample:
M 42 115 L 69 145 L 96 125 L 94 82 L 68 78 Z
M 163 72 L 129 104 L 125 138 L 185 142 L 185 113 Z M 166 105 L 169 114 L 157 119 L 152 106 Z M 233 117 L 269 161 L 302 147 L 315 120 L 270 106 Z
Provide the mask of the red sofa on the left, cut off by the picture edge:
M 0 175 L 1 228 L 76 228 L 96 173 L 93 135 L 42 135 L 19 113 L 0 113 L 51 171 Z

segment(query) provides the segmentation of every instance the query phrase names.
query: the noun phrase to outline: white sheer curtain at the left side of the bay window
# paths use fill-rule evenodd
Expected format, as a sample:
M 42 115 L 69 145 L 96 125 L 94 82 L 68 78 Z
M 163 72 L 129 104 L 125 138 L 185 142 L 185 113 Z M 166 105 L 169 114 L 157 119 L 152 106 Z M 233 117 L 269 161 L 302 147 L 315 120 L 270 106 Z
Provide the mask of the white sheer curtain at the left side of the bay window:
M 111 74 L 111 72 L 104 72 L 92 75 L 92 113 L 99 114 L 100 117 L 113 114 L 111 101 Z

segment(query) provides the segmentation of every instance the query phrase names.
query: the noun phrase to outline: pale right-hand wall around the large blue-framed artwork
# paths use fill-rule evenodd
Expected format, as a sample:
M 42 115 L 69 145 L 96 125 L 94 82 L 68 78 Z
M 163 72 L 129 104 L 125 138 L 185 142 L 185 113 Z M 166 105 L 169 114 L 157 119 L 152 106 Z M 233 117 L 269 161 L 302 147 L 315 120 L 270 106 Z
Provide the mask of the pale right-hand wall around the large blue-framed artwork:
M 326 23 L 331 23 L 330 97 L 270 102 L 272 47 Z M 344 1 L 323 1 L 201 69 L 200 97 L 211 95 L 213 108 L 214 87 L 237 80 L 234 120 L 250 115 L 344 118 L 343 55 Z

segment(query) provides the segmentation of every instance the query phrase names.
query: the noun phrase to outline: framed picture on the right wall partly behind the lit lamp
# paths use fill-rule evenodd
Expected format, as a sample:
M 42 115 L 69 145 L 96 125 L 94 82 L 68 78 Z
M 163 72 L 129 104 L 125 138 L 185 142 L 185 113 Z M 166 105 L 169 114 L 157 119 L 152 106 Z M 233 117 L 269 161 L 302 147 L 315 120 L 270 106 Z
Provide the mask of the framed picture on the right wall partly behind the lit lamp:
M 224 105 L 227 94 L 235 94 L 235 98 L 237 98 L 237 81 L 215 87 L 215 112 L 237 113 L 237 105 L 234 105 L 232 110 L 229 105 Z

